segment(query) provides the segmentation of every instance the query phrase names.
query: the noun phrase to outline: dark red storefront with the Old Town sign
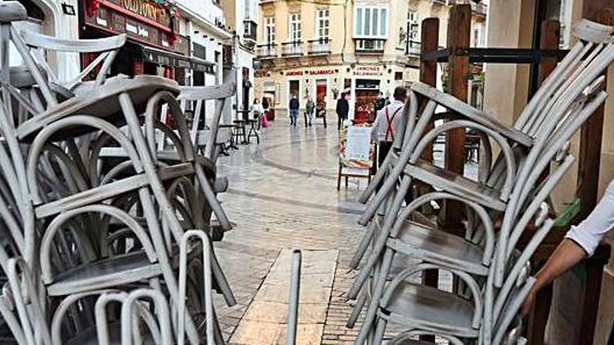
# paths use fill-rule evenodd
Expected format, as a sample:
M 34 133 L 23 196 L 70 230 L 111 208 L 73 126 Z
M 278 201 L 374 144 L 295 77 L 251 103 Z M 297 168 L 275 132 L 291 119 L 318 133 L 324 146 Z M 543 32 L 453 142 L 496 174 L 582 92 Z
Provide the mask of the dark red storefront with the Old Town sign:
M 194 72 L 214 73 L 214 64 L 190 57 L 190 38 L 179 35 L 180 11 L 168 1 L 82 0 L 81 38 L 126 33 L 112 75 L 160 75 L 190 84 Z M 87 65 L 96 54 L 84 54 Z

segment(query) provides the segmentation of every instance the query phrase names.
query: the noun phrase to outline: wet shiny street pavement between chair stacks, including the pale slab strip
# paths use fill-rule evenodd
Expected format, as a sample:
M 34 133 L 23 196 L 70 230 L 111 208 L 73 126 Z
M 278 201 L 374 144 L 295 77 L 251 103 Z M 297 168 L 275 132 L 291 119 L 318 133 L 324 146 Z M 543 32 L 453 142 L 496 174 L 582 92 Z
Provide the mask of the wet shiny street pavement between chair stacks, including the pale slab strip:
M 240 145 L 218 161 L 219 174 L 230 180 L 220 199 L 237 224 L 216 243 L 238 301 L 226 307 L 216 296 L 225 339 L 285 344 L 289 253 L 300 249 L 298 344 L 352 342 L 357 328 L 345 327 L 351 310 L 345 293 L 355 275 L 348 264 L 364 231 L 357 224 L 364 206 L 354 201 L 358 181 L 336 190 L 338 132 L 278 120 L 261 134 L 260 144 Z

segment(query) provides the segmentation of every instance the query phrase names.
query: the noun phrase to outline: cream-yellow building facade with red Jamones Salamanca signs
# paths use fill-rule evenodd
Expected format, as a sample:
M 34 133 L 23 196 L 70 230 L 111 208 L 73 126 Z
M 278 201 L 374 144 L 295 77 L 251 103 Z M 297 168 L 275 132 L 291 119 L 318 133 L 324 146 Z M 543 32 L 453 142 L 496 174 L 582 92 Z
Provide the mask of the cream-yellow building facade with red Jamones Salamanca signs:
M 454 1 L 455 3 L 458 1 Z M 340 93 L 350 93 L 350 118 L 366 121 L 381 91 L 419 77 L 420 23 L 440 17 L 445 45 L 449 1 L 260 1 L 255 93 L 278 116 L 296 95 L 311 98 L 320 114 L 334 114 Z M 475 7 L 476 44 L 484 43 L 486 6 Z M 442 72 L 444 74 L 444 66 Z

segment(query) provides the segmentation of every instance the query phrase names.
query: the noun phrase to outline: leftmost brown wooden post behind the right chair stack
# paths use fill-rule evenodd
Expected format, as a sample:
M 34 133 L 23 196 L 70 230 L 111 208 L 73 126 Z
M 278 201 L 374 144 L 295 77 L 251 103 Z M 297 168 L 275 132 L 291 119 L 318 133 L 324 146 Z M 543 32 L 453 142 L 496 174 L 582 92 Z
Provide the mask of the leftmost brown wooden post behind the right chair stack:
M 426 18 L 422 21 L 420 38 L 420 55 L 437 52 L 439 49 L 439 18 Z M 430 86 L 437 86 L 437 60 L 420 59 L 420 82 Z M 423 102 L 424 103 L 424 102 Z M 426 104 L 423 104 L 423 106 Z M 426 130 L 435 128 L 435 122 L 431 121 Z M 422 159 L 433 162 L 433 146 L 427 146 L 421 156 Z M 439 283 L 439 270 L 426 270 L 422 275 L 422 284 L 437 287 Z M 424 342 L 435 342 L 435 337 L 422 336 Z

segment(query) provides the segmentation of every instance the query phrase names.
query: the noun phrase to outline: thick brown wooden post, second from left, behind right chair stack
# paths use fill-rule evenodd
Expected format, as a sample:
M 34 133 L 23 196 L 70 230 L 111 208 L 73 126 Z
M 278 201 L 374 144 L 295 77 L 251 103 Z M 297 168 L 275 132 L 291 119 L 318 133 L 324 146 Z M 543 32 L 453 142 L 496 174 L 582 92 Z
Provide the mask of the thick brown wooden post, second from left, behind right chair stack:
M 471 31 L 471 6 L 456 5 L 451 8 L 448 22 L 449 91 L 454 97 L 467 102 L 467 79 Z M 445 167 L 463 174 L 465 170 L 465 129 L 446 133 Z M 446 202 L 444 222 L 448 229 L 461 229 L 464 208 L 458 202 Z M 462 233 L 460 235 L 463 235 Z

